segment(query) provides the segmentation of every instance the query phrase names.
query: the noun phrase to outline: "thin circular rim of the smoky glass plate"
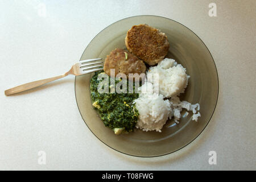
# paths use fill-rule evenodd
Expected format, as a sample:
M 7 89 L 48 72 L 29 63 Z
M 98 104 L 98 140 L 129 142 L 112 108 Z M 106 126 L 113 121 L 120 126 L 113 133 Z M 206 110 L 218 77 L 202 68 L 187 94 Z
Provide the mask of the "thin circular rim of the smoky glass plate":
M 177 22 L 176 20 L 173 20 L 173 19 L 170 19 L 170 18 L 166 18 L 166 17 L 164 17 L 164 16 L 158 16 L 158 15 L 135 15 L 135 16 L 129 16 L 129 17 L 126 17 L 126 18 L 123 18 L 123 19 L 119 19 L 119 20 L 117 20 L 117 21 L 114 22 L 114 23 L 120 22 L 120 21 L 125 20 L 125 19 L 129 19 L 129 18 L 139 17 L 139 16 L 154 16 L 154 17 L 164 18 L 164 19 L 168 19 L 168 20 L 174 21 L 174 22 L 176 22 L 176 23 L 179 23 L 179 22 Z M 104 31 L 104 30 L 105 30 L 106 28 L 108 28 L 109 26 L 112 26 L 112 24 L 114 24 L 114 23 L 111 23 L 111 24 L 109 24 L 108 26 L 106 26 L 105 28 L 103 28 L 100 32 L 98 32 L 98 34 L 100 34 L 102 31 Z M 205 128 L 209 125 L 209 122 L 212 120 L 213 114 L 214 114 L 214 112 L 215 112 L 215 110 L 216 110 L 216 107 L 217 107 L 218 95 L 219 95 L 219 92 L 220 92 L 220 82 L 219 82 L 219 78 L 218 78 L 218 71 L 217 71 L 216 63 L 215 63 L 215 61 L 214 61 L 214 59 L 213 59 L 212 53 L 210 53 L 208 47 L 205 45 L 205 43 L 203 42 L 203 40 L 202 40 L 195 32 L 193 32 L 190 28 L 188 28 L 188 27 L 185 26 L 184 24 L 181 24 L 181 23 L 179 23 L 179 24 L 180 24 L 181 26 L 187 28 L 187 29 L 188 29 L 189 31 L 191 31 L 194 35 L 196 35 L 197 38 L 199 38 L 199 40 L 200 40 L 200 41 L 204 44 L 204 46 L 207 48 L 207 51 L 209 52 L 210 57 L 212 57 L 212 60 L 213 60 L 213 64 L 214 64 L 214 67 L 215 67 L 215 70 L 216 70 L 216 74 L 217 74 L 217 99 L 216 99 L 216 103 L 215 103 L 215 106 L 214 106 L 212 115 L 210 115 L 209 121 L 207 122 L 207 124 L 205 125 L 205 127 L 203 128 L 203 130 L 201 130 L 200 133 L 199 133 L 198 135 L 196 135 L 196 137 L 191 140 L 191 142 L 188 142 L 188 143 L 185 144 L 183 147 L 180 147 L 179 149 L 177 149 L 177 150 L 175 150 L 175 151 L 168 152 L 168 153 L 166 153 L 166 154 L 161 154 L 161 155 L 154 155 L 154 156 L 139 156 L 139 155 L 126 154 L 125 152 L 119 151 L 119 150 L 117 150 L 117 149 L 115 149 L 115 148 L 109 146 L 109 145 L 106 144 L 105 142 L 103 142 L 100 138 L 98 138 L 98 137 L 96 136 L 96 134 L 94 134 L 94 133 L 92 132 L 92 130 L 90 129 L 90 127 L 86 124 L 85 119 L 82 117 L 81 111 L 80 111 L 80 109 L 79 109 L 79 105 L 77 104 L 77 96 L 76 96 L 76 77 L 77 77 L 77 76 L 75 76 L 74 91 L 75 91 L 75 97 L 76 97 L 76 105 L 77 105 L 77 108 L 79 109 L 79 113 L 80 113 L 80 115 L 81 115 L 81 117 L 82 117 L 82 120 L 84 121 L 85 125 L 88 127 L 88 129 L 90 130 L 90 132 L 91 132 L 98 140 L 100 140 L 100 141 L 101 141 L 102 143 L 104 143 L 106 146 L 112 148 L 114 151 L 120 152 L 121 154 L 129 155 L 129 156 L 134 156 L 134 157 L 137 157 L 137 158 L 156 158 L 156 157 L 160 157 L 160 156 L 164 156 L 164 155 L 170 155 L 170 154 L 173 154 L 174 152 L 177 152 L 177 151 L 181 150 L 181 149 L 184 148 L 184 147 L 187 147 L 189 144 L 191 144 L 196 138 L 198 138 L 198 137 L 201 135 L 201 133 L 203 133 L 203 131 L 205 130 Z M 88 48 L 89 44 L 98 36 L 98 34 L 95 35 L 92 40 L 90 40 L 90 42 L 88 43 L 88 45 L 85 47 L 84 51 L 82 52 L 82 55 L 84 55 L 84 52 L 85 52 L 86 49 Z M 81 55 L 79 61 L 81 61 L 82 55 Z

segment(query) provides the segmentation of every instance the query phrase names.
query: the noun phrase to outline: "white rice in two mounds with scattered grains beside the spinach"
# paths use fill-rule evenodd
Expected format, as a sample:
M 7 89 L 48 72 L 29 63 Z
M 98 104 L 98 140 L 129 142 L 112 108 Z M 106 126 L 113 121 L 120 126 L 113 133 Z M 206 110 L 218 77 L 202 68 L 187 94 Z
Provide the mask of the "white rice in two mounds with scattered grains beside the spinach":
M 192 120 L 198 120 L 201 116 L 200 105 L 180 101 L 177 97 L 184 92 L 188 84 L 189 76 L 185 72 L 185 68 L 173 59 L 164 59 L 156 67 L 150 67 L 147 81 L 139 88 L 139 98 L 134 100 L 139 111 L 137 128 L 143 131 L 161 132 L 168 118 L 174 117 L 174 121 L 179 123 L 183 109 L 192 111 Z M 159 74 L 159 93 L 156 92 L 158 90 L 157 83 L 152 79 L 154 77 L 148 75 L 150 73 Z M 164 98 L 168 99 L 164 100 Z

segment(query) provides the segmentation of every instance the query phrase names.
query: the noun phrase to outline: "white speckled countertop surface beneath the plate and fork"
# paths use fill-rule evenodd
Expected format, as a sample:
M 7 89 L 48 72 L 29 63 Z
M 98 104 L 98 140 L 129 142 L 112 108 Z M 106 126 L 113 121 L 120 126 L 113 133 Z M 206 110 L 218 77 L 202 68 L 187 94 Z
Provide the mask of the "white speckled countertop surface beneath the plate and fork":
M 217 16 L 208 15 L 211 2 Z M 1 1 L 0 169 L 255 170 L 255 9 L 253 0 Z M 13 86 L 64 73 L 98 32 L 134 15 L 174 19 L 212 53 L 220 81 L 217 107 L 187 147 L 137 158 L 105 146 L 81 118 L 73 76 L 5 96 Z M 45 152 L 46 164 L 38 163 L 39 151 Z M 216 151 L 217 164 L 208 163 L 209 151 Z

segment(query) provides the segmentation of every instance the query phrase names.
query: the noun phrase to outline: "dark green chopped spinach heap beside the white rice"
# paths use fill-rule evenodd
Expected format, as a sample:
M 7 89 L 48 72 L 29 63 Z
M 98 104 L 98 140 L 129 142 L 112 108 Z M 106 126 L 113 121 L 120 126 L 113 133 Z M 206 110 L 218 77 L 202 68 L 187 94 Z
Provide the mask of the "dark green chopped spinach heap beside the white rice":
M 127 93 L 110 93 L 110 89 L 113 87 L 110 85 L 110 79 L 114 79 L 112 77 L 108 77 L 109 93 L 99 93 L 97 88 L 102 80 L 97 80 L 97 77 L 100 73 L 103 72 L 96 72 L 90 80 L 90 96 L 94 109 L 98 110 L 105 126 L 113 129 L 115 134 L 133 131 L 139 116 L 133 101 L 139 97 L 139 94 L 128 93 L 128 82 Z M 121 80 L 115 80 L 115 85 L 119 81 Z M 133 91 L 134 89 L 133 85 Z

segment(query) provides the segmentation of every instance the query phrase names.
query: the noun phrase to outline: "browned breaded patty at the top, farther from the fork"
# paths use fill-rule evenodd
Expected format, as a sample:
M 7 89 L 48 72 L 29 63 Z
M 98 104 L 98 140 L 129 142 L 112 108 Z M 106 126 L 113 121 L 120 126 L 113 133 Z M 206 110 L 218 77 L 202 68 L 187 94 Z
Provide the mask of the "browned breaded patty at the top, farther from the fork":
M 155 65 L 163 60 L 170 46 L 163 32 L 147 24 L 131 27 L 127 32 L 125 45 L 128 51 L 149 65 Z

